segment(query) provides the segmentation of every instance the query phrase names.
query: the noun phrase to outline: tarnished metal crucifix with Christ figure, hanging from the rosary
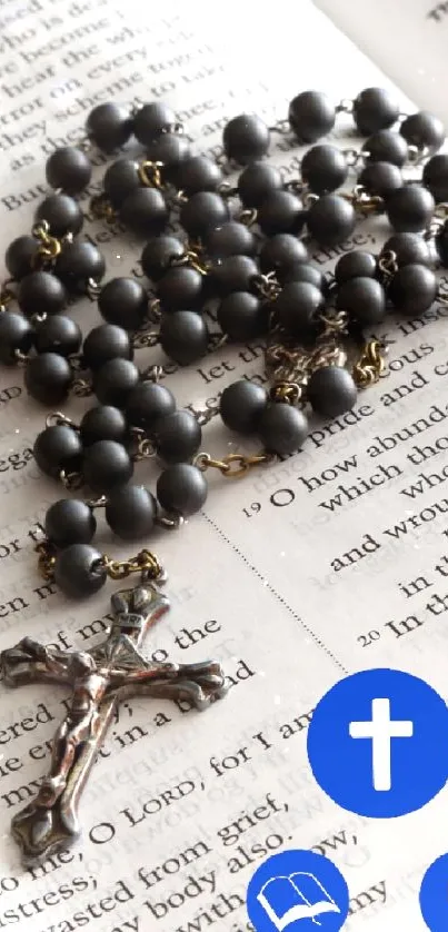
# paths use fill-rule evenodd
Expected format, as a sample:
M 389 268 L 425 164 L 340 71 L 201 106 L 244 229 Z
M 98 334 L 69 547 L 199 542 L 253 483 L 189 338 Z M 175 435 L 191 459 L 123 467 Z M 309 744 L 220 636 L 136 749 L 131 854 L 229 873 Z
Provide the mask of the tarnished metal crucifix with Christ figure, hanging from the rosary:
M 205 708 L 226 692 L 217 661 L 158 664 L 140 654 L 149 627 L 169 607 L 156 585 L 123 589 L 111 603 L 109 635 L 91 651 L 59 651 L 24 637 L 0 654 L 8 686 L 44 682 L 72 687 L 69 712 L 53 738 L 49 773 L 36 799 L 12 820 L 12 834 L 28 865 L 78 837 L 82 787 L 122 700 L 135 695 L 188 698 Z

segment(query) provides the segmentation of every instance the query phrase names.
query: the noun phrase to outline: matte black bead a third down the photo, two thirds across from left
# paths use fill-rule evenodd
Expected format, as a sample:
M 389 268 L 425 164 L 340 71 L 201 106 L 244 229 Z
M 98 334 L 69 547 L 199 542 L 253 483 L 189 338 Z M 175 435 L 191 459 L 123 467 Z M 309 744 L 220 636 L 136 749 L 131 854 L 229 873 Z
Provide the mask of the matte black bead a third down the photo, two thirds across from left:
M 308 281 L 291 281 L 285 285 L 273 308 L 280 324 L 295 337 L 307 339 L 312 336 L 317 315 L 323 310 L 322 293 Z

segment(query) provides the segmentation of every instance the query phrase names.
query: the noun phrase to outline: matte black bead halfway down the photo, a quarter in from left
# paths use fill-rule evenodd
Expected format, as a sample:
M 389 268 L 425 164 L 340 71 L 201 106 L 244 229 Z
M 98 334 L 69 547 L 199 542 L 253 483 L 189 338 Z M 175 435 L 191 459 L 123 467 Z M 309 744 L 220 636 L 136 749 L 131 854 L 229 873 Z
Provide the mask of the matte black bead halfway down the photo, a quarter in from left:
M 82 474 L 89 488 L 99 495 L 108 495 L 125 485 L 132 473 L 128 450 L 117 440 L 97 440 L 84 452 Z

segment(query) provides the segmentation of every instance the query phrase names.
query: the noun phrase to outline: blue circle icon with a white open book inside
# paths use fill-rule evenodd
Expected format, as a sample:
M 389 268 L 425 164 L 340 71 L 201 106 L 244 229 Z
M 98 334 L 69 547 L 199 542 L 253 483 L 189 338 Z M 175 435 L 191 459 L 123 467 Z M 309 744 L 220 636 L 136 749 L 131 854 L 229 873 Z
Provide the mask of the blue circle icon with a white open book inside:
M 347 883 L 313 851 L 282 851 L 255 872 L 247 911 L 256 932 L 338 932 L 349 910 Z

